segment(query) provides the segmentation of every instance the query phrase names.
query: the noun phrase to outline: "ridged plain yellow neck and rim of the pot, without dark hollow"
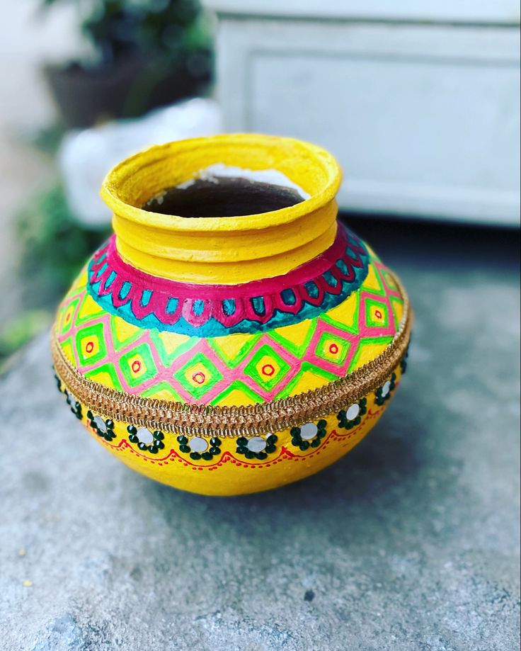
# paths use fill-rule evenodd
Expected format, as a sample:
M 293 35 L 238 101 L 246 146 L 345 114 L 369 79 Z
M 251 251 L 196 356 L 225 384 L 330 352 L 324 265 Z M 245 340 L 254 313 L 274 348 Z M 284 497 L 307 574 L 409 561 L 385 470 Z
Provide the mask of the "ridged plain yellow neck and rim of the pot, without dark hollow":
M 277 170 L 309 198 L 269 213 L 180 217 L 143 210 L 166 188 L 214 164 Z M 122 259 L 153 276 L 236 284 L 280 276 L 321 254 L 336 237 L 340 169 L 324 149 L 291 138 L 218 135 L 152 147 L 116 166 L 101 196 L 113 210 Z

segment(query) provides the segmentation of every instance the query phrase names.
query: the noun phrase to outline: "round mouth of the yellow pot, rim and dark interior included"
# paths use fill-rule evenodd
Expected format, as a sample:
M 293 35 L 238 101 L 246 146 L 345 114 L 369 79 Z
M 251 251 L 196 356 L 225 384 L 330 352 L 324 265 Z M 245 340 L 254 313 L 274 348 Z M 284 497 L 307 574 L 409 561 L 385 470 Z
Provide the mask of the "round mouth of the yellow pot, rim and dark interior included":
M 109 172 L 101 196 L 117 217 L 150 227 L 251 230 L 321 208 L 335 198 L 339 185 L 338 164 L 321 147 L 233 134 L 135 154 Z

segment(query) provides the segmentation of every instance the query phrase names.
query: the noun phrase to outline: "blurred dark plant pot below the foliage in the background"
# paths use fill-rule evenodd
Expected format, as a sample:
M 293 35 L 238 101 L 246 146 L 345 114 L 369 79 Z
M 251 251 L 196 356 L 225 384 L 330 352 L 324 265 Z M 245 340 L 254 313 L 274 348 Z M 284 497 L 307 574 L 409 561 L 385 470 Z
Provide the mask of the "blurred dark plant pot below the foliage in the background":
M 201 52 L 200 72 L 186 62 L 166 64 L 127 55 L 112 65 L 86 69 L 77 63 L 47 64 L 43 72 L 67 128 L 89 127 L 110 118 L 133 118 L 156 106 L 205 94 L 210 53 Z

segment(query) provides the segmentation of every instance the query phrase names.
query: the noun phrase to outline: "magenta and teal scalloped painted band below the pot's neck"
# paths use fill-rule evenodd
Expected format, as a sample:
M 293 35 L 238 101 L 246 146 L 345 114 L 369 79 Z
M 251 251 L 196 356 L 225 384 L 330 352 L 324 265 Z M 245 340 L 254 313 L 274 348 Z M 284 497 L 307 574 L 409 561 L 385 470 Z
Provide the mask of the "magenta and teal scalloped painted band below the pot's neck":
M 369 254 L 353 233 L 338 232 L 331 249 L 305 266 L 231 287 L 148 276 L 122 262 L 111 239 L 88 265 L 88 292 L 106 312 L 143 329 L 200 337 L 266 332 L 317 317 L 360 288 Z

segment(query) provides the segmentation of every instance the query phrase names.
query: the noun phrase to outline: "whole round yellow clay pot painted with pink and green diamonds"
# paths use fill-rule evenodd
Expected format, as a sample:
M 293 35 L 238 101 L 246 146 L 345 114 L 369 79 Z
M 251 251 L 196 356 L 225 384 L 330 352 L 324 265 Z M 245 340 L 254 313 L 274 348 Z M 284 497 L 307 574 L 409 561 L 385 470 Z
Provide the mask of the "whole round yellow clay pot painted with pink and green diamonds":
M 243 179 L 237 200 L 210 201 L 228 216 L 152 210 L 167 188 L 193 200 L 207 169 L 228 188 Z M 258 183 L 275 186 L 275 209 L 248 206 Z M 234 495 L 307 477 L 370 431 L 406 368 L 411 310 L 337 221 L 339 183 L 324 149 L 260 135 L 153 147 L 108 174 L 114 234 L 52 334 L 59 390 L 108 451 L 173 487 Z

